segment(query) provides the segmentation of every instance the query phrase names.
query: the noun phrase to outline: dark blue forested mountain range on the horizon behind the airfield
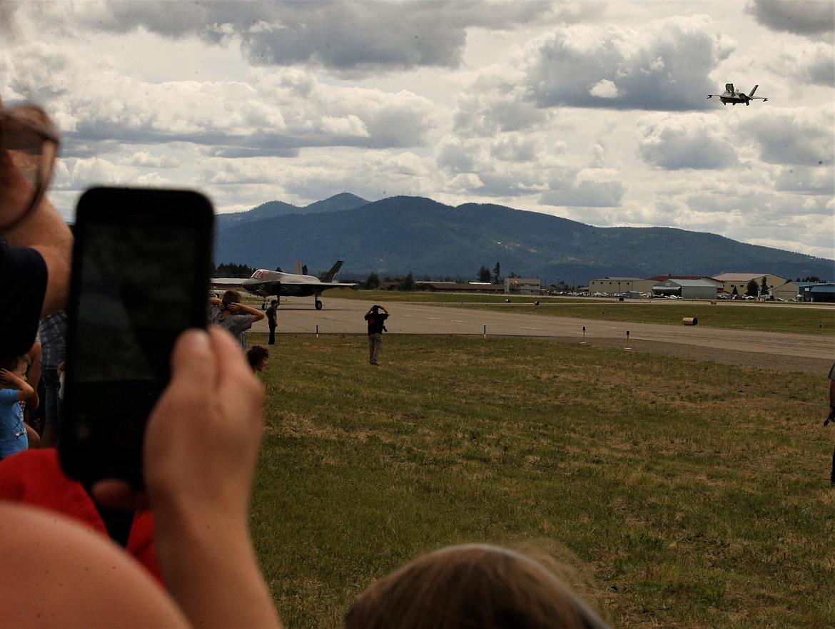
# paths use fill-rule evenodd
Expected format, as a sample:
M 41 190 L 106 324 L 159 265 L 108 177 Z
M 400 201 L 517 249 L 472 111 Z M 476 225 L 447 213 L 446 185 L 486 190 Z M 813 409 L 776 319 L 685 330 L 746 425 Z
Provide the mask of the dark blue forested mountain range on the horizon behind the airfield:
M 585 284 L 602 277 L 777 274 L 835 279 L 835 261 L 665 227 L 593 227 L 494 204 L 450 206 L 423 197 L 369 202 L 342 193 L 300 208 L 270 201 L 217 217 L 215 262 L 311 274 L 344 259 L 340 279 L 475 279 L 501 274 Z

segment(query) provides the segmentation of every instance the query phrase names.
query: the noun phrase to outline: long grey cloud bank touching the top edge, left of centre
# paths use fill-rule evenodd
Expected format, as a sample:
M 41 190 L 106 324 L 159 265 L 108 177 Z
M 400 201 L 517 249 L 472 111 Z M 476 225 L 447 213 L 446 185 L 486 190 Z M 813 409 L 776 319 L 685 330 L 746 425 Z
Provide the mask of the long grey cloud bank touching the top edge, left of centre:
M 344 76 L 461 63 L 466 29 L 547 18 L 544 2 L 109 2 L 82 15 L 89 28 L 146 28 L 166 38 L 237 43 L 254 66 L 316 65 Z M 574 11 L 573 17 L 588 13 Z M 562 17 L 572 15 L 561 12 Z

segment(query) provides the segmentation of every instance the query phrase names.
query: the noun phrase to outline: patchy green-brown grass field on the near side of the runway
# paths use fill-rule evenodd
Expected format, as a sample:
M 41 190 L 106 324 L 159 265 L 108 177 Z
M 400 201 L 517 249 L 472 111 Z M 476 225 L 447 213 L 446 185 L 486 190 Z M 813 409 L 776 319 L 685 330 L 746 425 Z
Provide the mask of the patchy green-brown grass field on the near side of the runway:
M 251 524 L 291 629 L 462 541 L 575 557 L 613 626 L 835 626 L 825 374 L 409 335 L 373 368 L 362 335 L 284 335 L 261 376 Z

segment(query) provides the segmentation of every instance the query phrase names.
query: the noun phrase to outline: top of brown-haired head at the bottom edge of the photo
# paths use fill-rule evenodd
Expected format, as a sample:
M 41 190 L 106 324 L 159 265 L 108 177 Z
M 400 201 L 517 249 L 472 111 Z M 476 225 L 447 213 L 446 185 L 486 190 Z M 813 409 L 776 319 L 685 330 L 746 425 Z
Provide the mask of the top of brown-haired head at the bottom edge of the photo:
M 602 629 L 554 572 L 499 546 L 450 546 L 373 583 L 345 629 Z

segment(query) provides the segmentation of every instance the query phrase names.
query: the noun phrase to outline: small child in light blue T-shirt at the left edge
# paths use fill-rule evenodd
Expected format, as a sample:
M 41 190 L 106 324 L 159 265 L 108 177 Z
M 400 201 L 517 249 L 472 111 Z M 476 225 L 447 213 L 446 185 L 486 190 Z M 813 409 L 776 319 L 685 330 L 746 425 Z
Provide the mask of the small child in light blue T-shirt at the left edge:
M 29 432 L 23 422 L 21 402 L 31 398 L 34 390 L 26 381 L 27 361 L 24 356 L 0 360 L 0 459 L 29 447 Z M 37 433 L 34 433 L 37 435 Z

